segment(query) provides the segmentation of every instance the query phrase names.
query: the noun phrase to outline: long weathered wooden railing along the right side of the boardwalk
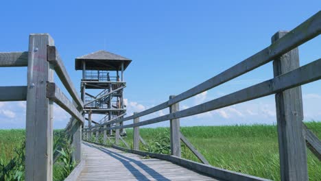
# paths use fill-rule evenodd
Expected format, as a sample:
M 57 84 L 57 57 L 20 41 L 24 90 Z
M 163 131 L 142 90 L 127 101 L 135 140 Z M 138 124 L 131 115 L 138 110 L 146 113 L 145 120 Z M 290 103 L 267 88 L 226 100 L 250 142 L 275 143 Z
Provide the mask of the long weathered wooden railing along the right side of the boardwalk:
M 134 128 L 134 149 L 126 149 L 117 145 L 113 145 L 113 147 L 135 154 L 149 155 L 169 160 L 178 165 L 183 165 L 184 167 L 189 167 L 226 180 L 265 180 L 263 178 L 206 165 L 208 162 L 205 158 L 197 152 L 180 132 L 179 119 L 275 94 L 281 180 L 308 180 L 305 144 L 307 142 L 309 149 L 320 159 L 321 142 L 312 132 L 307 130 L 302 123 L 303 111 L 300 85 L 321 79 L 321 59 L 300 67 L 297 47 L 315 38 L 320 33 L 321 12 L 318 12 L 290 32 L 277 32 L 272 36 L 272 44 L 270 46 L 255 53 L 246 60 L 239 62 L 235 66 L 230 67 L 230 69 L 215 75 L 211 79 L 206 80 L 184 93 L 180 93 L 180 95 L 169 97 L 168 101 L 158 106 L 142 112 L 136 112 L 130 117 L 114 119 L 102 125 L 95 125 L 92 128 L 84 129 L 83 133 L 87 135 L 84 135 L 83 138 L 88 138 L 88 134 L 93 132 L 104 132 L 104 140 L 106 141 L 106 130 L 116 130 L 115 143 L 118 144 L 119 140 L 122 140 L 121 136 L 119 136 L 119 129 Z M 224 84 L 239 75 L 243 75 L 271 61 L 273 61 L 274 71 L 274 78 L 271 80 L 207 101 L 198 106 L 179 110 L 178 104 L 180 101 Z M 165 108 L 169 108 L 169 114 L 139 121 L 140 117 Z M 119 123 L 129 120 L 134 120 L 134 123 L 119 125 Z M 139 151 L 139 126 L 167 120 L 170 120 L 171 156 Z M 115 123 L 116 125 L 113 126 Z M 180 158 L 180 140 L 182 140 L 204 164 Z

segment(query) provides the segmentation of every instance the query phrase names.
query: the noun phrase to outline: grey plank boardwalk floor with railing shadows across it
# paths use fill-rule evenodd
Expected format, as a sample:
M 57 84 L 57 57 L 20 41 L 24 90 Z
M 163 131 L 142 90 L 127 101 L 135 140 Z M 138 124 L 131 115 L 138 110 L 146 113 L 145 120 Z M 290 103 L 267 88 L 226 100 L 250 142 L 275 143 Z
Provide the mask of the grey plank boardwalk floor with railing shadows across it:
M 217 180 L 165 160 L 144 159 L 111 147 L 82 144 L 84 169 L 77 180 Z

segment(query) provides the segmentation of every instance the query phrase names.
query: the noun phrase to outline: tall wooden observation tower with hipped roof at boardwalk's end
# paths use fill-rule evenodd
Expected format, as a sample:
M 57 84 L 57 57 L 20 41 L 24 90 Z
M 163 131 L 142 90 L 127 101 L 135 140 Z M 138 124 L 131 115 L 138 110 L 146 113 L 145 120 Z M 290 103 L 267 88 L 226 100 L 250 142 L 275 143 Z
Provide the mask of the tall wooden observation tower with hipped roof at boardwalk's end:
M 130 62 L 132 60 L 108 51 L 97 51 L 75 58 L 75 69 L 82 70 L 81 95 L 89 128 L 92 123 L 107 123 L 126 114 L 126 106 L 123 104 L 123 88 L 126 87 L 123 72 Z M 99 121 L 93 121 L 92 114 L 104 116 Z M 120 130 L 120 134 L 126 134 L 125 130 Z

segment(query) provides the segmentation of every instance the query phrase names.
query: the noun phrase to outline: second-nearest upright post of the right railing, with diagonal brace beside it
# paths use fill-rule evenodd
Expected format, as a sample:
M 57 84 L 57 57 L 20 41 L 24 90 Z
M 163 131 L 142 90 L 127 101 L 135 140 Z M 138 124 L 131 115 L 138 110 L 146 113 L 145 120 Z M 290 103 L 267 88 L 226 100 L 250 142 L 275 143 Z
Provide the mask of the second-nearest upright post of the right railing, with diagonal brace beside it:
M 175 95 L 169 96 L 169 99 L 173 99 Z M 180 110 L 180 104 L 176 103 L 169 106 L 169 112 L 177 112 Z M 180 119 L 170 120 L 171 131 L 171 155 L 180 157 Z

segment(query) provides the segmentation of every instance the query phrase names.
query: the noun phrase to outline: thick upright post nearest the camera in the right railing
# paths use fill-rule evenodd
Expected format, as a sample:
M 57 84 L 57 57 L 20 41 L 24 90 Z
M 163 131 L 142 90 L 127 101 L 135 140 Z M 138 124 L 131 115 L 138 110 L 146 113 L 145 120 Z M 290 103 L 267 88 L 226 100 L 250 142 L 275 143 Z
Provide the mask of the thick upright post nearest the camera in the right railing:
M 277 32 L 272 43 L 287 34 Z M 276 58 L 273 62 L 274 77 L 300 67 L 298 48 Z M 302 135 L 301 87 L 276 93 L 276 118 L 280 153 L 281 180 L 308 180 L 305 138 Z

